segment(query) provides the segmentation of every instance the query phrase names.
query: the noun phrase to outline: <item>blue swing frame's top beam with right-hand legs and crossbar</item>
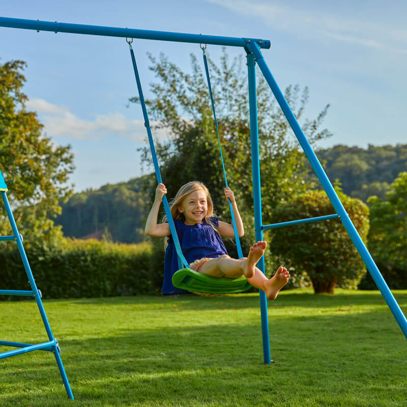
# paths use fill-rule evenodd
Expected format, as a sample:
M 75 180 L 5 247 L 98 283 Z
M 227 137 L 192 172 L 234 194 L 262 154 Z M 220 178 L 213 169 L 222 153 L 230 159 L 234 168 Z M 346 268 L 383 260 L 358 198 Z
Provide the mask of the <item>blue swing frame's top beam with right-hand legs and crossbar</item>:
M 371 274 L 374 282 L 379 288 L 382 296 L 384 297 L 387 305 L 393 313 L 398 325 L 400 326 L 404 336 L 407 338 L 407 320 L 398 306 L 394 296 L 392 295 L 388 285 L 386 284 L 379 269 L 375 265 L 370 253 L 360 238 L 358 231 L 353 225 L 351 219 L 346 213 L 341 201 L 339 200 L 331 182 L 329 181 L 321 163 L 316 158 L 312 148 L 306 139 L 300 125 L 295 118 L 294 113 L 288 106 L 281 90 L 279 89 L 273 75 L 271 74 L 261 49 L 270 48 L 270 41 L 263 39 L 253 38 L 232 38 L 232 37 L 217 37 L 209 35 L 194 35 L 184 33 L 168 33 L 160 31 L 147 31 L 147 30 L 132 30 L 129 28 L 119 27 L 105 27 L 96 25 L 83 25 L 83 24 L 69 24 L 62 22 L 51 21 L 38 21 L 38 20 L 25 20 L 8 17 L 0 17 L 0 26 L 23 28 L 27 30 L 36 31 L 50 31 L 55 33 L 75 33 L 86 35 L 100 35 L 110 37 L 123 37 L 123 38 L 139 38 L 161 41 L 175 41 L 175 42 L 187 42 L 196 44 L 213 44 L 224 46 L 236 46 L 243 47 L 247 53 L 247 66 L 248 66 L 248 87 L 249 87 L 249 105 L 250 105 L 250 138 L 251 138 L 251 153 L 252 153 L 252 178 L 253 178 L 253 201 L 254 201 L 254 219 L 255 219 L 255 234 L 256 240 L 263 240 L 263 230 L 278 227 L 276 225 L 263 225 L 261 219 L 261 192 L 260 192 L 260 166 L 259 166 L 259 150 L 258 150 L 258 128 L 257 128 L 257 101 L 256 101 L 256 77 L 255 77 L 255 64 L 259 67 L 261 73 L 263 73 L 267 83 L 270 86 L 277 102 L 279 103 L 289 125 L 292 127 L 298 141 L 303 148 L 306 157 L 308 158 L 318 180 L 321 182 L 324 190 L 326 191 L 336 214 L 330 215 L 332 217 L 338 217 L 345 227 L 348 235 L 351 237 L 352 242 L 356 246 L 360 256 L 362 257 L 369 273 Z M 148 123 L 146 127 L 149 131 L 150 126 Z M 152 146 L 154 148 L 154 146 Z M 155 163 L 156 166 L 156 163 Z M 158 163 L 157 163 L 158 167 Z M 160 182 L 160 181 L 159 181 Z M 164 208 L 168 205 L 165 203 Z M 313 222 L 324 220 L 326 217 L 313 218 L 308 220 L 299 220 L 293 222 L 284 222 L 284 225 L 288 223 L 300 223 L 300 222 Z M 260 259 L 258 265 L 259 269 L 265 272 L 264 260 Z M 269 326 L 267 316 L 267 299 L 265 294 L 260 291 L 260 310 L 261 310 L 261 326 L 263 332 L 263 351 L 264 351 L 264 363 L 271 363 L 270 358 L 270 340 L 269 340 Z

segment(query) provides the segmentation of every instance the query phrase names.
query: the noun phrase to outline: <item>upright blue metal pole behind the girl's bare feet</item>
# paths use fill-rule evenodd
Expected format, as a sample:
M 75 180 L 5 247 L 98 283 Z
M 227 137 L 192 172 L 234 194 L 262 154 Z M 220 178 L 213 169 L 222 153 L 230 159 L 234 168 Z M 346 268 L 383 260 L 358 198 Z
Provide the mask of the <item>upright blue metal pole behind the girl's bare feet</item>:
M 260 162 L 258 154 L 258 124 L 257 124 L 257 96 L 256 96 L 256 71 L 253 55 L 247 55 L 247 71 L 249 78 L 249 107 L 250 107 L 250 139 L 251 139 L 251 167 L 253 178 L 253 203 L 254 203 L 254 228 L 256 242 L 263 240 L 261 229 L 261 192 L 260 192 Z M 260 258 L 257 267 L 265 273 L 264 256 Z M 264 363 L 271 363 L 269 318 L 267 315 L 267 297 L 264 291 L 259 290 L 261 333 L 263 336 Z

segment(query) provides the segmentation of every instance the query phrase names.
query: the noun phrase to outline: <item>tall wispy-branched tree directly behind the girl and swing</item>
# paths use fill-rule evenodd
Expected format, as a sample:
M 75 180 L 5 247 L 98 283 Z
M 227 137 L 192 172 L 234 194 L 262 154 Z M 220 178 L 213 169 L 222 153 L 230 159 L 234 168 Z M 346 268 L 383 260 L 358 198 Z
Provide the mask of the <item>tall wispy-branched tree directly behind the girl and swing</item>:
M 168 61 L 150 55 L 151 70 L 158 83 L 153 83 L 153 98 L 147 100 L 149 114 L 158 121 L 158 128 L 170 130 L 171 137 L 156 142 L 162 178 L 168 196 L 174 196 L 185 182 L 198 179 L 206 183 L 212 193 L 218 214 L 228 216 L 228 206 L 222 199 L 222 166 L 218 141 L 210 105 L 210 97 L 202 64 L 191 55 L 192 71 L 183 72 Z M 244 59 L 231 63 L 223 52 L 220 66 L 210 59 L 216 115 L 230 187 L 237 195 L 242 213 L 252 214 L 252 177 L 250 153 L 249 103 L 247 72 Z M 275 101 L 263 76 L 258 76 L 257 101 L 260 139 L 260 171 L 263 183 L 263 216 L 268 219 L 272 209 L 296 191 L 304 191 L 302 153 L 294 141 L 285 117 Z M 308 89 L 288 86 L 285 97 L 298 119 L 302 119 L 308 101 Z M 138 98 L 132 101 L 138 102 Z M 330 135 L 319 130 L 328 105 L 315 120 L 305 120 L 303 129 L 311 143 Z M 150 151 L 143 150 L 144 162 L 150 162 Z M 289 180 L 289 182 L 288 182 Z M 253 219 L 244 219 L 246 230 L 253 228 Z M 253 234 L 251 235 L 253 236 Z

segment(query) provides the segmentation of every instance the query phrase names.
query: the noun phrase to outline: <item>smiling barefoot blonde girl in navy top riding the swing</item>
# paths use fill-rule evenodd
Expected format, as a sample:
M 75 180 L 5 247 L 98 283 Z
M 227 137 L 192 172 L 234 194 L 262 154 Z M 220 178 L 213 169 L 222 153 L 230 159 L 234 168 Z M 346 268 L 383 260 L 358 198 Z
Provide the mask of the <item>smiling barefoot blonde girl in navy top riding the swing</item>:
M 178 269 L 177 254 L 168 223 L 157 223 L 162 197 L 166 193 L 165 185 L 158 184 L 144 231 L 155 238 L 168 237 L 162 294 L 171 295 L 180 293 L 170 283 L 172 274 Z M 242 237 L 243 222 L 230 188 L 225 188 L 225 197 L 230 199 L 238 234 Z M 192 270 L 212 277 L 236 278 L 244 275 L 251 285 L 263 290 L 269 300 L 277 297 L 279 290 L 289 279 L 287 269 L 280 266 L 274 276 L 268 279 L 256 267 L 265 252 L 266 242 L 254 243 L 247 257 L 234 259 L 227 254 L 221 236 L 233 238 L 233 226 L 214 216 L 212 198 L 205 185 L 198 181 L 183 185 L 171 202 L 170 209 L 182 252 Z

